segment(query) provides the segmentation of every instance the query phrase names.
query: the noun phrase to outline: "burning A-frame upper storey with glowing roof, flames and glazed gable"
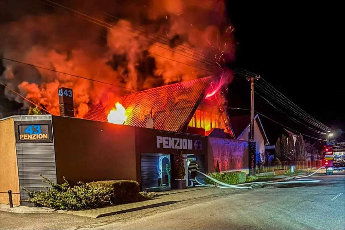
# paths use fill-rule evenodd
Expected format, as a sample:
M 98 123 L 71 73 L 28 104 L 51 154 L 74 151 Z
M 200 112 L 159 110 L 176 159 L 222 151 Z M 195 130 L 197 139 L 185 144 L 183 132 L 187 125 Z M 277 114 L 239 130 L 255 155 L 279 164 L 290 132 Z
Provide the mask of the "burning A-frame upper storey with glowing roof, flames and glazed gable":
M 116 102 L 115 108 L 122 109 L 122 114 L 107 109 L 107 104 L 114 105 L 108 97 L 108 103 L 91 104 L 84 119 L 113 123 L 120 116 L 125 118 L 120 118 L 120 124 L 147 127 L 151 118 L 152 128 L 158 130 L 207 136 L 219 128 L 227 138 L 234 138 L 217 84 L 221 83 L 210 76 L 131 93 L 119 99 L 121 104 Z

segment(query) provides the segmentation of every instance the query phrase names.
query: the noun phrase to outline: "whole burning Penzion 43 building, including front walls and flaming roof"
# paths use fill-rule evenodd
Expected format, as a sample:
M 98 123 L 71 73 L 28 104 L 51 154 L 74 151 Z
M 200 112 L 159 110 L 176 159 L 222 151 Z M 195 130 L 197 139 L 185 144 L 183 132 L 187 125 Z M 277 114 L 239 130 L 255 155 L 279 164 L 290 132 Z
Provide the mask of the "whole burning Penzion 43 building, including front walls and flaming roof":
M 61 89 L 61 88 L 60 88 Z M 84 119 L 68 112 L 71 89 L 58 90 L 61 116 L 27 115 L 0 119 L 0 203 L 13 203 L 29 191 L 42 189 L 39 174 L 62 183 L 130 179 L 142 189 L 176 188 L 175 172 L 182 152 L 200 171 L 248 172 L 248 141 L 234 140 L 234 132 L 213 77 L 171 84 L 128 94 L 114 102 L 90 105 Z M 69 90 L 71 90 L 70 93 Z M 66 98 L 64 98 L 66 97 Z M 214 97 L 211 98 L 210 97 Z M 66 108 L 65 108 L 66 107 Z M 225 107 L 225 106 L 224 106 Z M 70 117 L 68 117 L 70 116 Z M 198 180 L 205 182 L 203 176 Z M 184 180 L 182 180 L 184 181 Z

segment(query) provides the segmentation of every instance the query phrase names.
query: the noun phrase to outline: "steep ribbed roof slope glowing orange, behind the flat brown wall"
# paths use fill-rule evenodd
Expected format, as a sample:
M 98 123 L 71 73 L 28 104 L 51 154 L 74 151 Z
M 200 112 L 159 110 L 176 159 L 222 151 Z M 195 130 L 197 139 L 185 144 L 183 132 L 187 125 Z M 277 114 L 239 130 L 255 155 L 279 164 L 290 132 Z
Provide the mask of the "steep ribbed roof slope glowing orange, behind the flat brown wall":
M 146 127 L 149 114 L 155 129 L 181 132 L 205 97 L 212 80 L 209 76 L 128 94 L 120 98 L 127 115 L 124 124 Z M 84 119 L 107 122 L 108 112 L 102 102 L 92 104 Z

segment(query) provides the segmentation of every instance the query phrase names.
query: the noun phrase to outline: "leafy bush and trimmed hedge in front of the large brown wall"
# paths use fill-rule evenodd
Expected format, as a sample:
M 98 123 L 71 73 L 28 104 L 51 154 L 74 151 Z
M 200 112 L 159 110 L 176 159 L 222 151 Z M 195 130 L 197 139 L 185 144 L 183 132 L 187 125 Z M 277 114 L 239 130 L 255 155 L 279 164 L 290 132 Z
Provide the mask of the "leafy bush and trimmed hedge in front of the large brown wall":
M 42 182 L 48 183 L 48 191 L 29 192 L 29 202 L 42 207 L 55 209 L 82 210 L 110 206 L 119 203 L 137 202 L 147 197 L 139 193 L 139 183 L 131 180 L 96 181 L 90 183 L 78 182 L 77 186 L 70 187 L 65 177 L 63 184 L 57 184 L 50 179 Z

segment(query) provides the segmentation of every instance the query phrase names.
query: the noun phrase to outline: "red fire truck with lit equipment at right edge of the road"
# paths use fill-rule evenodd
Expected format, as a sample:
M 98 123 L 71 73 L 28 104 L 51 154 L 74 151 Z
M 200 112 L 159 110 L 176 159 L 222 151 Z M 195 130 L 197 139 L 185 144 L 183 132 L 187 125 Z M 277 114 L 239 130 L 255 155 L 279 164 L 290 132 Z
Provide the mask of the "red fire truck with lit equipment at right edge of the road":
M 345 142 L 327 142 L 324 150 L 326 175 L 332 175 L 333 171 L 345 170 Z

